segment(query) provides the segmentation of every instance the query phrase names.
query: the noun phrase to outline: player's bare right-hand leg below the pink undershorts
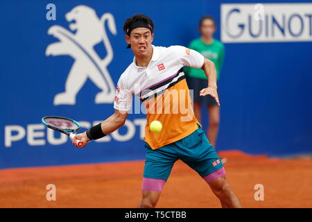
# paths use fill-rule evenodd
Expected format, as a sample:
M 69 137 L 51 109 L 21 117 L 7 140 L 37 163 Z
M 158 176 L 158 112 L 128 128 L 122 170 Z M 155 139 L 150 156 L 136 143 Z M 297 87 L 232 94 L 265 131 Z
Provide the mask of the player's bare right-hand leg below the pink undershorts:
M 209 186 L 214 194 L 219 198 L 223 208 L 241 208 L 241 203 L 232 191 L 231 187 L 229 187 L 225 176 L 209 182 Z

